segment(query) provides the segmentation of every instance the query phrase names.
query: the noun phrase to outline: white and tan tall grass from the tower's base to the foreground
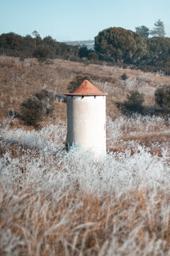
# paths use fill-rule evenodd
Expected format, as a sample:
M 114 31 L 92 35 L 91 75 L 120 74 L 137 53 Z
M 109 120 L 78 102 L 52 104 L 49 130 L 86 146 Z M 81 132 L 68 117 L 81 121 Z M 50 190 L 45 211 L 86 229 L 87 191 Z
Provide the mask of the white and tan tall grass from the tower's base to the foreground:
M 123 140 L 133 127 L 169 123 L 108 119 L 108 148 L 125 149 L 105 159 L 64 151 L 64 124 L 1 127 L 0 255 L 170 255 L 169 142 L 151 154 Z

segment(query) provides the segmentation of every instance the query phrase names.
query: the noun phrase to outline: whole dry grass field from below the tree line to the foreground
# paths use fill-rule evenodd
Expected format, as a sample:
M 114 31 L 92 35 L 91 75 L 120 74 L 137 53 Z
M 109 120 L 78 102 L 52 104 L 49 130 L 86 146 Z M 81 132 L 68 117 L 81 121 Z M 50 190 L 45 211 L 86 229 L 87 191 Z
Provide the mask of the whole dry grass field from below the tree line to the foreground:
M 42 88 L 63 95 L 79 74 L 108 92 L 104 159 L 64 150 L 65 103 L 38 129 L 8 117 Z M 154 106 L 164 84 L 168 76 L 104 64 L 0 58 L 0 255 L 170 255 L 170 121 L 115 106 L 136 89 Z

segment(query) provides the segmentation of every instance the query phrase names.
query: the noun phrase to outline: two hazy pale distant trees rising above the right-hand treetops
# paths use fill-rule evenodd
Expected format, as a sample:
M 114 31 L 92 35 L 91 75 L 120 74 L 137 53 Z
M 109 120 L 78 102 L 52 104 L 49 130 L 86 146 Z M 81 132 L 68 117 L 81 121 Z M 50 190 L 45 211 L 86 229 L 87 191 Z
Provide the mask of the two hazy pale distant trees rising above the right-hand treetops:
M 160 19 L 154 23 L 154 28 L 151 31 L 146 26 L 138 26 L 135 29 L 142 38 L 148 38 L 149 35 L 159 37 L 166 35 L 164 21 L 161 21 Z

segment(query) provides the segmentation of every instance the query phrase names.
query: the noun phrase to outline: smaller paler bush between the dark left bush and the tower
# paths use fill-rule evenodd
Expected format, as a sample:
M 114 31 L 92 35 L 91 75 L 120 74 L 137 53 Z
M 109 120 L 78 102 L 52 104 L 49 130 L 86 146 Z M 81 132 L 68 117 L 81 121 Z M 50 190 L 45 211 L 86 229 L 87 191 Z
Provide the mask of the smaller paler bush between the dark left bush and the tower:
M 35 97 L 40 100 L 42 103 L 42 112 L 43 114 L 52 114 L 54 110 L 54 102 L 55 102 L 55 95 L 53 92 L 50 92 L 49 90 L 42 89 L 40 92 L 35 93 Z

